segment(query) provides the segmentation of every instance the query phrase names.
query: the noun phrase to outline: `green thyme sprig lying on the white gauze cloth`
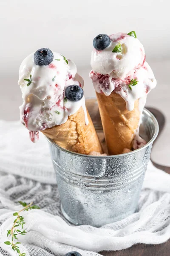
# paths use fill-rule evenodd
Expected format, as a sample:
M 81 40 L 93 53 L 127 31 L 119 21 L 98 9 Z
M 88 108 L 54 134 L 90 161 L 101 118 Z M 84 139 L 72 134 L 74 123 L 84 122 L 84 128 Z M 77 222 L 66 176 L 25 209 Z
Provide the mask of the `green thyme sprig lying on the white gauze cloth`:
M 26 230 L 23 229 L 23 226 L 26 224 L 24 217 L 20 215 L 20 212 L 28 211 L 31 209 L 40 209 L 37 205 L 26 204 L 26 202 L 18 202 L 20 203 L 24 208 L 21 209 L 19 212 L 14 212 L 13 215 L 17 216 L 17 218 L 14 220 L 14 223 L 10 230 L 7 230 L 7 237 L 10 238 L 11 241 L 5 241 L 4 244 L 10 245 L 12 250 L 18 253 L 18 256 L 26 256 L 26 253 L 20 252 L 20 247 L 18 244 L 21 244 L 20 242 L 15 242 L 17 240 L 18 235 L 26 235 Z

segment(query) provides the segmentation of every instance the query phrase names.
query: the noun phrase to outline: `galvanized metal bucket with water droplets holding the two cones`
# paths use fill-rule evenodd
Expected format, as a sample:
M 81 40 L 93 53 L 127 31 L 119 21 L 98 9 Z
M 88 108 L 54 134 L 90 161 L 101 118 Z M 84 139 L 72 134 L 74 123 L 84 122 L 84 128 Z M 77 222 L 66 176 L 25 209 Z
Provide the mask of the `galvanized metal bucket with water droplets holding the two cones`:
M 89 112 L 93 109 L 94 125 L 102 132 L 96 101 L 89 100 L 86 104 L 90 106 Z M 158 131 L 155 117 L 144 109 L 140 135 L 148 143 L 126 154 L 105 157 L 77 154 L 47 138 L 65 218 L 76 225 L 100 227 L 135 212 Z

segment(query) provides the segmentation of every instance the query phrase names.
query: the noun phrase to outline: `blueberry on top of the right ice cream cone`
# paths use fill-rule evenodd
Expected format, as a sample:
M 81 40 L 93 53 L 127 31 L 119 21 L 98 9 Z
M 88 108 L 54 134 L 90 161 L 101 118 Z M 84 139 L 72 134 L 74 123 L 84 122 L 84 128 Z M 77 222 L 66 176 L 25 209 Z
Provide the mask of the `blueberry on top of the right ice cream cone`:
M 99 34 L 93 40 L 93 46 L 98 51 L 104 50 L 110 43 L 111 39 L 106 34 Z

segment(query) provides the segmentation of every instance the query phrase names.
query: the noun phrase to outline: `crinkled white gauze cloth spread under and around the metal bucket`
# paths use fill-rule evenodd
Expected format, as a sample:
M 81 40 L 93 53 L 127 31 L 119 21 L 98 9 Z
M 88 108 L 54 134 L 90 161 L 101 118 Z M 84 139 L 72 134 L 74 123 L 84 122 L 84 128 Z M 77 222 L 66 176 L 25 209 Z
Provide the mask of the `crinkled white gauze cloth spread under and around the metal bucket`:
M 12 213 L 22 208 L 18 201 L 34 201 L 41 208 L 23 212 L 28 233 L 19 241 L 27 256 L 62 256 L 72 250 L 97 256 L 102 250 L 159 244 L 170 238 L 170 175 L 150 162 L 136 213 L 101 228 L 76 227 L 60 211 L 45 138 L 40 134 L 40 141 L 33 144 L 20 122 L 0 121 L 0 255 L 16 255 L 3 242 L 15 218 Z

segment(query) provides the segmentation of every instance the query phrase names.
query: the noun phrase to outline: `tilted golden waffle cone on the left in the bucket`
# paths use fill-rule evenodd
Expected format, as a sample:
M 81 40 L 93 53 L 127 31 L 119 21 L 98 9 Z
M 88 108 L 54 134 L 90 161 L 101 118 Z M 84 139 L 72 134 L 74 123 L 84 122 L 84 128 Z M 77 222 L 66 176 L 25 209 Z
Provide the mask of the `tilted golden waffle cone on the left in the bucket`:
M 75 114 L 68 116 L 67 122 L 47 128 L 42 133 L 67 150 L 80 154 L 89 154 L 91 151 L 102 154 L 102 147 L 88 111 L 87 114 L 88 125 L 85 125 L 85 114 L 81 107 Z

